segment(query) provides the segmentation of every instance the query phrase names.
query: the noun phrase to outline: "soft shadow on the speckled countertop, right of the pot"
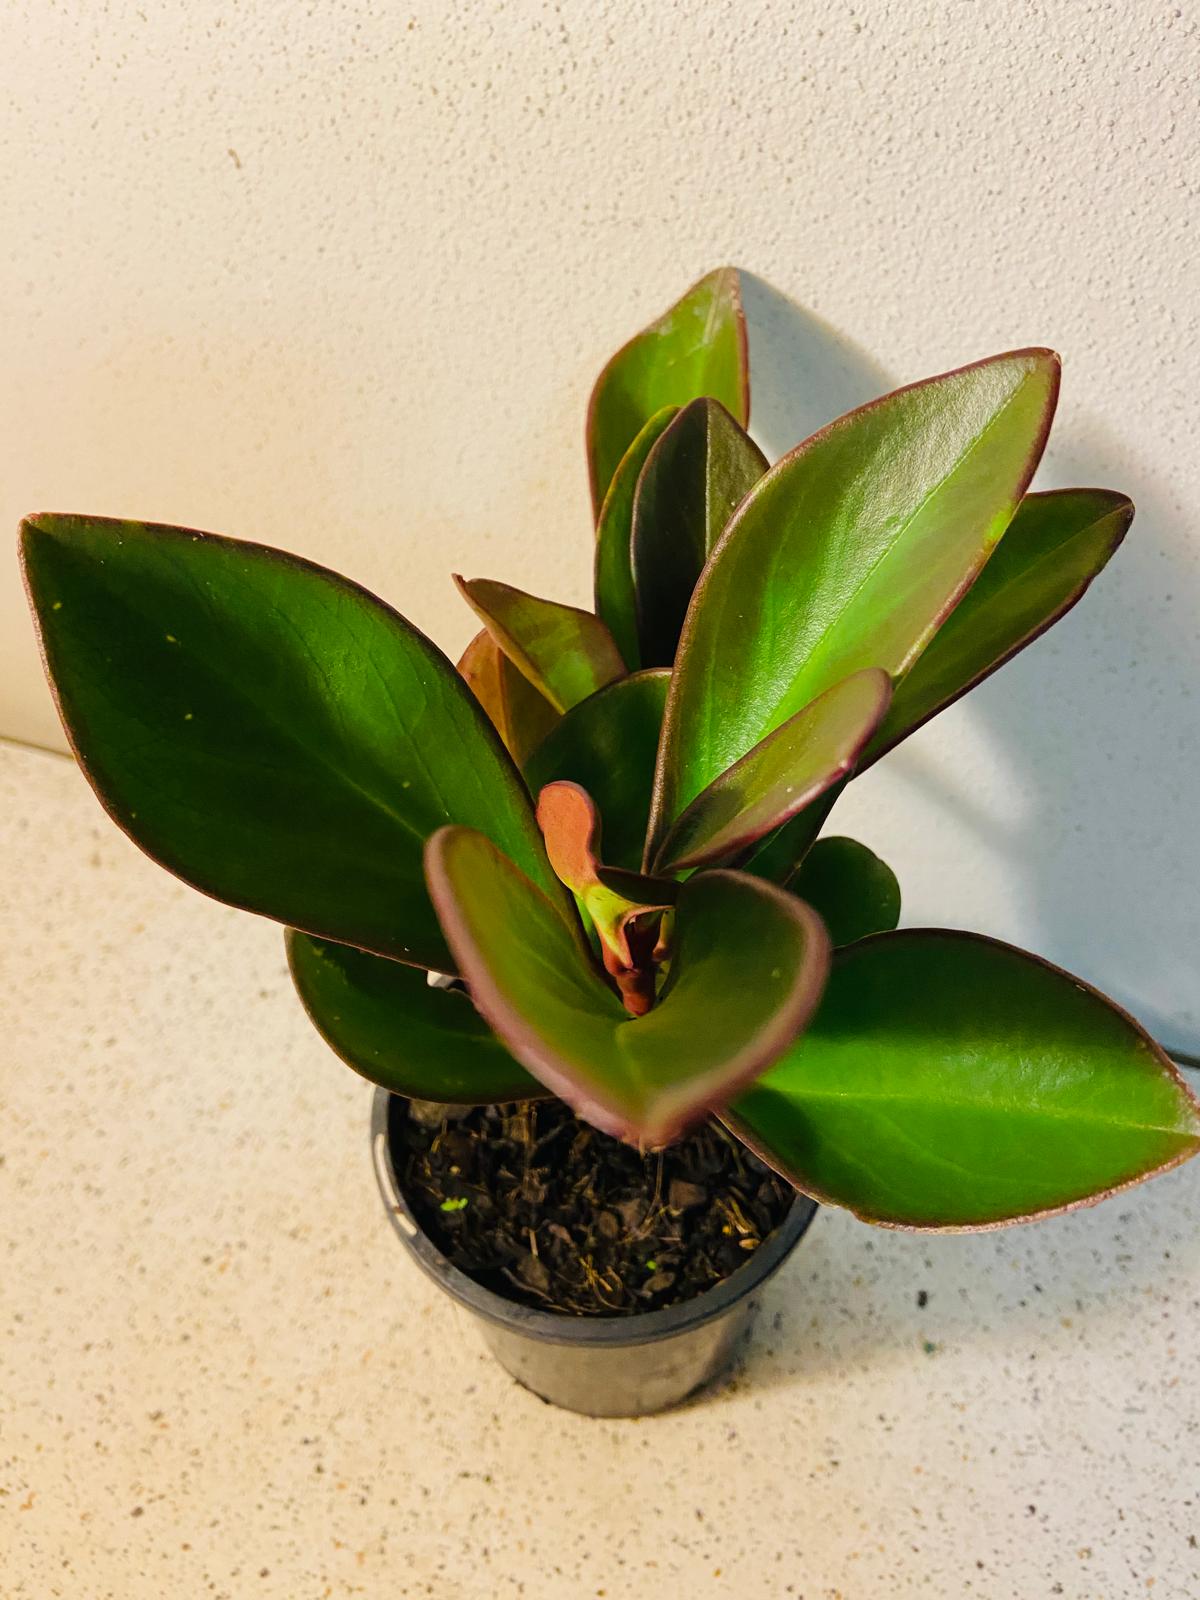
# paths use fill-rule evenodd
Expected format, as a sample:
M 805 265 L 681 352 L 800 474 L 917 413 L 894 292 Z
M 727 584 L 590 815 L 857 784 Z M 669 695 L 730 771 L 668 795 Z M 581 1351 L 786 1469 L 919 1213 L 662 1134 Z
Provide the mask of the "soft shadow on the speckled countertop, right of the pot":
M 914 1355 L 1035 1360 L 1102 1344 L 1112 1318 L 1194 1318 L 1200 1162 L 1066 1216 L 984 1234 L 906 1234 L 822 1206 L 757 1296 L 734 1366 L 710 1397 Z M 694 1403 L 702 1403 L 704 1395 Z

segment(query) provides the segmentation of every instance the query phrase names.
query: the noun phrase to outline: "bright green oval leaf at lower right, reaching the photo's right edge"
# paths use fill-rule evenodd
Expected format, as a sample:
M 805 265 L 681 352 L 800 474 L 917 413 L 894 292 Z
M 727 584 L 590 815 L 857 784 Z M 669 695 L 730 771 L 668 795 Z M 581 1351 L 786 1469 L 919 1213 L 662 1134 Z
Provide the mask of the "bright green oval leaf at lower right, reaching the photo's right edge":
M 1131 1016 L 938 930 L 840 950 L 808 1034 L 730 1122 L 806 1194 L 922 1229 L 1061 1211 L 1200 1150 L 1200 1107 Z

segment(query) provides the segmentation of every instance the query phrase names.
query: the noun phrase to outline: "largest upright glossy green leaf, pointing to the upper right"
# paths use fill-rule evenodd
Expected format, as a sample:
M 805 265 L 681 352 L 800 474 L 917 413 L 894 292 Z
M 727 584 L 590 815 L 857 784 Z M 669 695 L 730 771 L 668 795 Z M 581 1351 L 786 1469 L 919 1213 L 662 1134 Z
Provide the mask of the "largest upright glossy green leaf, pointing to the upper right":
M 824 690 L 912 666 L 1008 526 L 1056 394 L 1050 350 L 963 366 L 851 411 L 750 490 L 683 627 L 654 846 Z

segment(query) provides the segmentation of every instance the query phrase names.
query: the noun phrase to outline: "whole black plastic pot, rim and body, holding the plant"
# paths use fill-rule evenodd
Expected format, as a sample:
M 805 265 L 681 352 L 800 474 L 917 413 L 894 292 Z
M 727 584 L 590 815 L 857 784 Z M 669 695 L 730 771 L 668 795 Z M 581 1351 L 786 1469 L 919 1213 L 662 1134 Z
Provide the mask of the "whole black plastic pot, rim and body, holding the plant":
M 816 1214 L 797 1195 L 781 1226 L 744 1267 L 694 1299 L 637 1317 L 568 1317 L 493 1294 L 442 1254 L 400 1190 L 392 1133 L 405 1102 L 376 1090 L 371 1154 L 387 1214 L 408 1253 L 478 1323 L 483 1342 L 517 1382 L 586 1416 L 645 1416 L 677 1405 L 728 1365 L 750 1296 L 795 1250 Z

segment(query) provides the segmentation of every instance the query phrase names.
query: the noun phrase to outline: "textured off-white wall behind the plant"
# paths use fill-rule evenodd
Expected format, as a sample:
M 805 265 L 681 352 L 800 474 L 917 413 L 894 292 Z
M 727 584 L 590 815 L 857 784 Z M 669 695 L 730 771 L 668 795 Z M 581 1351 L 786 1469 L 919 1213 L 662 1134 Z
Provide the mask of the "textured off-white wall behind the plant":
M 771 453 L 1054 344 L 1042 482 L 1131 493 L 1130 541 L 842 822 L 909 922 L 1200 1045 L 1190 0 L 0 0 L 0 523 L 283 544 L 450 650 L 450 568 L 584 598 L 587 389 L 702 270 L 763 280 Z M 11 557 L 0 605 L 0 730 L 58 742 Z

